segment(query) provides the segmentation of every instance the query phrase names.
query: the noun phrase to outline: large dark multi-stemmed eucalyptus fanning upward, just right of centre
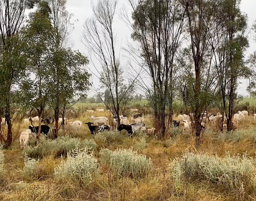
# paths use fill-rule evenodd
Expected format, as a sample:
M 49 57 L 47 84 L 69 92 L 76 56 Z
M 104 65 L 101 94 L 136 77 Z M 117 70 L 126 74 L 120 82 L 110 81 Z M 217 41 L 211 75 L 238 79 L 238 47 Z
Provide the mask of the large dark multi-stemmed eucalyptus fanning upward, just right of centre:
M 140 84 L 147 94 L 155 114 L 155 128 L 159 138 L 165 136 L 172 120 L 176 53 L 184 40 L 185 9 L 179 1 L 128 1 L 132 8 L 132 22 L 123 11 L 126 23 L 132 29 L 131 38 L 136 46 L 127 49 L 136 58 L 150 84 L 141 78 Z M 140 58 L 140 59 L 138 59 Z M 166 110 L 169 121 L 166 122 Z

